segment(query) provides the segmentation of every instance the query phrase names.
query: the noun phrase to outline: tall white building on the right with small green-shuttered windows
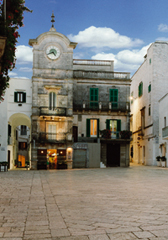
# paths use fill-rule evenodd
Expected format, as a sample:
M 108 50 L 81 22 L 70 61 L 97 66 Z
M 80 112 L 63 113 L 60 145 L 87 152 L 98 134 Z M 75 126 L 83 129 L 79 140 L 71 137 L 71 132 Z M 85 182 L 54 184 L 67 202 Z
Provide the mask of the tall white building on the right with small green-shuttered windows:
M 132 77 L 132 161 L 156 165 L 159 155 L 159 100 L 168 89 L 168 43 L 151 44 L 144 62 Z

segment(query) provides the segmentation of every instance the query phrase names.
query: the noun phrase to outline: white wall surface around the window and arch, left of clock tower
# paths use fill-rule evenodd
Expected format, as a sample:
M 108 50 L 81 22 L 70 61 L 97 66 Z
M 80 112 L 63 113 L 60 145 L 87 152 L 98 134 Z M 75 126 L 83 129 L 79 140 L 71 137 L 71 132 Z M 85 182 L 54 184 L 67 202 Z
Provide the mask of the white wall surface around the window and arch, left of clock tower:
M 16 157 L 15 146 L 15 130 L 19 125 L 27 125 L 31 127 L 31 112 L 32 112 L 32 81 L 30 79 L 11 78 L 9 88 L 5 93 L 5 100 L 0 104 L 0 161 L 7 161 L 7 151 L 9 150 L 10 164 L 13 168 L 13 163 Z M 19 106 L 14 102 L 14 92 L 26 92 L 26 103 Z M 7 144 L 8 140 L 8 124 L 12 126 L 11 144 Z

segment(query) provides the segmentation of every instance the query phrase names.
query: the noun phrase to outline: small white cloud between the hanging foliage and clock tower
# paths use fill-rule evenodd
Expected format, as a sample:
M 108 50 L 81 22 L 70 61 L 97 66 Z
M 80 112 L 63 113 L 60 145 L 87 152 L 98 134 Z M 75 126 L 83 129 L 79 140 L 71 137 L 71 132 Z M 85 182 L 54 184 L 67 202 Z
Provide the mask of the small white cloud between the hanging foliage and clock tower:
M 19 45 L 16 49 L 17 64 L 29 64 L 33 62 L 32 48 L 25 45 Z

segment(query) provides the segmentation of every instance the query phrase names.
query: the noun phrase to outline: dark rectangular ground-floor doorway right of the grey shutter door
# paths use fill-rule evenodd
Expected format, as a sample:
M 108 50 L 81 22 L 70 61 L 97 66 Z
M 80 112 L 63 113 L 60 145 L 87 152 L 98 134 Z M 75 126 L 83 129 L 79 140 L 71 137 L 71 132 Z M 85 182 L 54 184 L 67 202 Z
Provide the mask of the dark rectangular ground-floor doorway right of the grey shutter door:
M 107 144 L 107 167 L 120 166 L 120 144 Z

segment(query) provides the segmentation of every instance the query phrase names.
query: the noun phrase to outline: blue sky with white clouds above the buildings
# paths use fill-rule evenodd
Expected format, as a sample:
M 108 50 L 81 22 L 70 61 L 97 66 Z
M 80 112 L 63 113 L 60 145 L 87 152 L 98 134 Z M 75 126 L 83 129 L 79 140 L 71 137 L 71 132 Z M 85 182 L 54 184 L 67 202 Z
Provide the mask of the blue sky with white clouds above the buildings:
M 54 27 L 77 42 L 74 59 L 114 60 L 115 72 L 130 72 L 142 64 L 152 42 L 168 41 L 167 0 L 26 0 L 19 28 L 16 68 L 10 77 L 32 77 L 29 39 Z

